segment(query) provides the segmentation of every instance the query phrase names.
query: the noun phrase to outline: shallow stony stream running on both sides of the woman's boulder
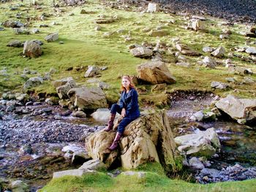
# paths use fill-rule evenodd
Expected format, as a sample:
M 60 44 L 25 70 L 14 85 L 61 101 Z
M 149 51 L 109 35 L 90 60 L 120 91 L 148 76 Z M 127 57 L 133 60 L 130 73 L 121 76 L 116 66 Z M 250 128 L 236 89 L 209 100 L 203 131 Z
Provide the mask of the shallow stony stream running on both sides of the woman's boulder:
M 220 170 L 237 163 L 244 167 L 256 166 L 256 126 L 239 125 L 230 120 L 190 122 L 189 116 L 205 109 L 214 100 L 211 93 L 189 96 L 179 93 L 172 99 L 167 116 L 175 136 L 211 127 L 216 129 L 222 148 L 217 157 L 209 160 L 210 168 Z M 54 110 L 59 113 L 65 111 L 61 107 Z M 61 148 L 69 144 L 83 148 L 84 138 L 101 129 L 104 123 L 95 122 L 92 118 L 72 118 L 70 115 L 55 120 L 53 115 L 0 120 L 0 177 L 24 180 L 31 185 L 31 191 L 36 191 L 51 179 L 53 172 L 80 166 L 72 165 L 69 159 L 64 158 Z M 22 150 L 28 145 L 31 153 L 26 153 L 27 149 L 25 152 Z

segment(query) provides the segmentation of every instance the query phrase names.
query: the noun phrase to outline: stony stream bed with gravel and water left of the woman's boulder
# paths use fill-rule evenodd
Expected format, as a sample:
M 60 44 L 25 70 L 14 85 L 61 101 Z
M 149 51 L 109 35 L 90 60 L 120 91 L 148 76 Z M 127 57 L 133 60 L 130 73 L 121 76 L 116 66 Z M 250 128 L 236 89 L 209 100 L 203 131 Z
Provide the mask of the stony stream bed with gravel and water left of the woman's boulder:
M 103 128 L 44 102 L 0 103 L 0 177 L 26 180 L 31 191 L 45 185 L 54 171 L 83 164 L 88 159 L 84 139 Z M 14 107 L 14 111 L 8 107 Z

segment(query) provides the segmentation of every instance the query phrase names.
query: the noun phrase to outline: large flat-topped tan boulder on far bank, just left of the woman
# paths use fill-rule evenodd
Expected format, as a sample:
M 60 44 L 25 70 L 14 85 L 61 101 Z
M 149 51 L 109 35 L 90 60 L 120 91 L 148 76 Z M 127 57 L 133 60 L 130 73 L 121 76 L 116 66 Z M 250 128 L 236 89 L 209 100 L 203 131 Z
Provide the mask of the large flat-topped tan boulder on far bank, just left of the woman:
M 72 104 L 81 110 L 97 110 L 107 107 L 107 99 L 101 88 L 72 88 L 68 96 Z

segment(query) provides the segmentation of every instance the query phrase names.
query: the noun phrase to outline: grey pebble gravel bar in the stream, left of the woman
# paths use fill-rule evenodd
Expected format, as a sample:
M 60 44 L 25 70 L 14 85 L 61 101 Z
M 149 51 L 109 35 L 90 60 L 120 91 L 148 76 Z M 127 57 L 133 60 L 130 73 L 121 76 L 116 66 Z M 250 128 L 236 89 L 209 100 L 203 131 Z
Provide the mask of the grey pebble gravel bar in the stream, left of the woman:
M 58 120 L 2 120 L 0 142 L 34 144 L 38 142 L 77 142 L 87 134 L 86 125 L 74 125 Z

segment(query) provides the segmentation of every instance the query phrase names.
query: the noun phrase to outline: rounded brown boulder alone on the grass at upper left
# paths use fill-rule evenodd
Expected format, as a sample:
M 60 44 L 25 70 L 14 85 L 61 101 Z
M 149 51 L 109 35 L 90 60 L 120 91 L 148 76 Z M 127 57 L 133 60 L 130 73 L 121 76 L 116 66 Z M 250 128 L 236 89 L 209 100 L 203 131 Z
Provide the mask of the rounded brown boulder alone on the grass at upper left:
M 42 47 L 33 41 L 26 41 L 23 47 L 23 55 L 30 58 L 37 58 L 42 55 Z

